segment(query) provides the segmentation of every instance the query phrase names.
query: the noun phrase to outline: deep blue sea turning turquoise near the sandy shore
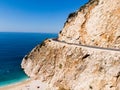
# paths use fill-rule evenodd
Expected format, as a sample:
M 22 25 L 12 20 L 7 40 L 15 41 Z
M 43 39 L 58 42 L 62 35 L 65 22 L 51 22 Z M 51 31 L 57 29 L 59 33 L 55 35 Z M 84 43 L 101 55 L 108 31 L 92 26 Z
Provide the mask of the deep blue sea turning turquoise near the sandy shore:
M 23 57 L 47 38 L 56 38 L 51 33 L 0 32 L 0 86 L 27 79 L 21 69 Z

